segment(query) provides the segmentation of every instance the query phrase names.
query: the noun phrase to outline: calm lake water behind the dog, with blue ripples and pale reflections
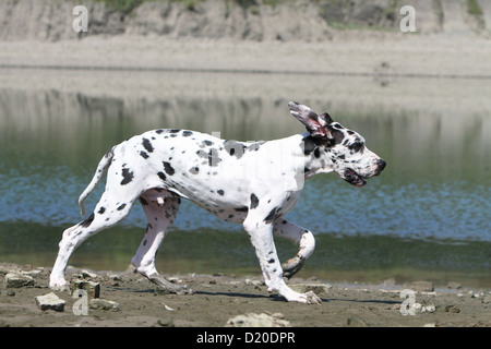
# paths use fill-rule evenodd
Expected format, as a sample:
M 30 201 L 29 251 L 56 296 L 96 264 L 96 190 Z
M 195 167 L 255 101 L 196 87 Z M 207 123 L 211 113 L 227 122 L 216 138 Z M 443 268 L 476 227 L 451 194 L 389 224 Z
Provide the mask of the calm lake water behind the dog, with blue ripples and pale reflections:
M 0 71 L 0 262 L 50 266 L 76 204 L 115 144 L 160 128 L 272 140 L 303 132 L 288 100 L 330 111 L 387 161 L 356 189 L 306 182 L 288 218 L 316 251 L 300 276 L 459 280 L 491 287 L 491 82 L 231 73 Z M 86 201 L 94 207 L 103 183 Z M 139 204 L 88 239 L 72 265 L 125 269 L 146 220 Z M 295 246 L 278 241 L 283 258 Z M 181 205 L 158 253 L 161 273 L 259 274 L 240 225 Z

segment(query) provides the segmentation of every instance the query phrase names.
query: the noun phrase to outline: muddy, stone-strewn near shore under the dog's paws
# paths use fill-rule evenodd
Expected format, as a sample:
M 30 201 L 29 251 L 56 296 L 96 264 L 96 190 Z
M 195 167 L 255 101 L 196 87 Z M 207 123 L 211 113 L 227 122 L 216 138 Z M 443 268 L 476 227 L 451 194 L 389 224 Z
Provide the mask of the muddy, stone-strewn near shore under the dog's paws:
M 35 297 L 51 292 L 50 268 L 0 264 L 1 326 L 176 326 L 223 327 L 230 318 L 249 313 L 265 313 L 282 320 L 278 325 L 291 327 L 392 327 L 392 326 L 491 326 L 489 290 L 470 290 L 453 285 L 452 289 L 431 291 L 428 285 L 328 285 L 310 278 L 291 279 L 289 285 L 302 289 L 315 287 L 321 305 L 285 302 L 268 294 L 259 275 L 237 278 L 233 275 L 175 275 L 175 282 L 189 285 L 194 294 L 159 294 L 153 284 L 137 274 L 125 272 L 85 272 L 85 279 L 100 282 L 100 299 L 117 302 L 119 310 L 88 309 L 87 315 L 75 315 L 76 299 L 68 292 L 56 292 L 65 301 L 64 311 L 40 310 Z M 22 273 L 33 278 L 31 286 L 5 288 L 5 275 Z M 69 268 L 68 278 L 81 275 Z M 415 314 L 403 315 L 403 289 L 412 287 Z M 419 291 L 418 291 L 419 288 Z M 279 314 L 278 314 L 279 313 Z

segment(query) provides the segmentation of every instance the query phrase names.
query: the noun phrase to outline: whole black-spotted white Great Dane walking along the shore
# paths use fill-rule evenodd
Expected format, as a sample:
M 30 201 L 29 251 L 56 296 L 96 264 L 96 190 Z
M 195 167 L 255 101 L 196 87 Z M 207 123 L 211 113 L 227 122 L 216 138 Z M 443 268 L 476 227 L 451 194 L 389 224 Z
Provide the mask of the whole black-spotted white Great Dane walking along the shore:
M 327 113 L 316 115 L 294 101 L 288 106 L 308 132 L 268 142 L 237 142 L 195 131 L 154 130 L 112 147 L 79 198 L 82 215 L 84 200 L 105 171 L 106 190 L 88 218 L 64 230 L 50 287 L 65 289 L 64 272 L 73 251 L 127 217 L 140 200 L 148 224 L 131 263 L 168 292 L 192 292 L 169 282 L 155 268 L 157 249 L 181 198 L 188 198 L 221 219 L 243 225 L 268 291 L 287 301 L 320 303 L 312 291 L 298 293 L 284 281 L 283 277 L 291 277 L 303 266 L 315 242 L 311 231 L 282 217 L 297 203 L 304 179 L 334 171 L 348 183 L 363 186 L 367 178 L 381 173 L 385 161 L 366 147 L 360 134 Z M 273 236 L 295 242 L 297 255 L 280 264 Z

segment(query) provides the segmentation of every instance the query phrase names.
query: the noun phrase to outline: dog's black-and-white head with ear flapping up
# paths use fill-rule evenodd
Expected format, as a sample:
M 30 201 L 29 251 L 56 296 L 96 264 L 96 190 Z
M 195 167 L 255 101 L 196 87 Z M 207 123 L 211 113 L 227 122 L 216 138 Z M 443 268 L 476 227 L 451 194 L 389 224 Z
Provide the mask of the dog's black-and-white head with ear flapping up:
M 288 104 L 290 113 L 303 123 L 310 135 L 304 152 L 310 152 L 320 166 L 331 167 L 340 178 L 355 186 L 367 184 L 366 179 L 379 176 L 386 163 L 366 146 L 357 132 L 333 121 L 328 113 L 318 116 L 296 101 Z

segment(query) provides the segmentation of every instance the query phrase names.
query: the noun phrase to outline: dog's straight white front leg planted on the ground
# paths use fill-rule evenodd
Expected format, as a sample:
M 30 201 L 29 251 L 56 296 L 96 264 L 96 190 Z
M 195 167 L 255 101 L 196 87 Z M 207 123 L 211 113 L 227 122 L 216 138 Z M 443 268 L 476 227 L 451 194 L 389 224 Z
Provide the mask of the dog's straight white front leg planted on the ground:
M 283 279 L 283 269 L 273 240 L 273 225 L 256 215 L 249 214 L 243 222 L 252 245 L 255 249 L 264 280 L 268 291 L 276 291 L 289 302 L 320 304 L 321 299 L 312 291 L 298 293 L 290 289 Z

